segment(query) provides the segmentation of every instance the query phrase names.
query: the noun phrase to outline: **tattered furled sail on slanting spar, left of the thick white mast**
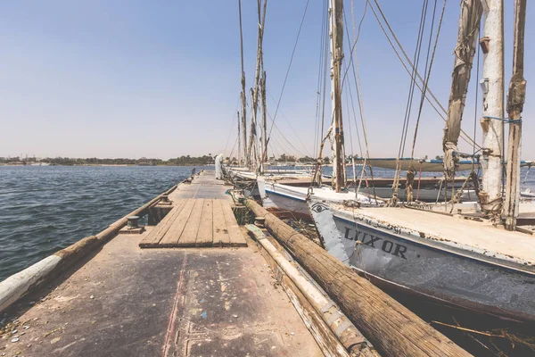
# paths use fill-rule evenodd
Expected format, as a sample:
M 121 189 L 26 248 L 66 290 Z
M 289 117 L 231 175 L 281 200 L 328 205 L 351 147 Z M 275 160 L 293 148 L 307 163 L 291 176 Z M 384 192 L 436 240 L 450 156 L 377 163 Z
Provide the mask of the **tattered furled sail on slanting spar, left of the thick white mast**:
M 449 95 L 448 120 L 446 120 L 442 139 L 446 179 L 452 179 L 455 175 L 455 166 L 458 161 L 455 153 L 458 151 L 457 143 L 461 133 L 461 120 L 463 120 L 466 92 L 470 82 L 482 12 L 481 0 L 462 0 L 455 48 L 455 66 Z

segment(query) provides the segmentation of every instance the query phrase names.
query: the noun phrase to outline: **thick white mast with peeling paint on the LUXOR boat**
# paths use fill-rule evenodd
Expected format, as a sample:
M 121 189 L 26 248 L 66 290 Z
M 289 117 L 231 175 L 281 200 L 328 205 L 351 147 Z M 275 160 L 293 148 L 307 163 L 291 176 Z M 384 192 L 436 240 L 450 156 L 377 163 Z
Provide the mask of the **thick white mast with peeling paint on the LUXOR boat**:
M 504 0 L 486 0 L 483 51 L 483 168 L 481 209 L 498 219 L 502 210 L 502 148 L 504 136 Z

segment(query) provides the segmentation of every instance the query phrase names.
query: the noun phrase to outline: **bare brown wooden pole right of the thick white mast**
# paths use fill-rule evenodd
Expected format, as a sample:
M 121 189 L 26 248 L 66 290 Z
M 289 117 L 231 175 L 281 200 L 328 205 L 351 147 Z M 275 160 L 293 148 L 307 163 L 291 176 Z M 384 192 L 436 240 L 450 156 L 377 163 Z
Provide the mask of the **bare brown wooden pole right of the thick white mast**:
M 510 121 L 504 216 L 506 218 L 506 229 L 509 230 L 516 228 L 516 217 L 518 217 L 518 204 L 520 201 L 521 114 L 526 99 L 526 79 L 523 78 L 526 3 L 526 0 L 514 1 L 513 77 L 509 83 L 509 91 L 507 93 L 507 113 Z

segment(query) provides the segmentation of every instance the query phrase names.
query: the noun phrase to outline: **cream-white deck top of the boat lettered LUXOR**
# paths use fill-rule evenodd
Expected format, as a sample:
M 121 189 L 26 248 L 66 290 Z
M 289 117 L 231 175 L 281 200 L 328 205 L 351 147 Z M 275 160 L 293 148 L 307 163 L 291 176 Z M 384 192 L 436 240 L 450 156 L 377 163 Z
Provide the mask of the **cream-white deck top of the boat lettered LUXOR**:
M 420 237 L 448 245 L 469 246 L 487 256 L 513 260 L 530 269 L 535 266 L 535 238 L 521 232 L 496 228 L 487 222 L 407 208 L 361 208 L 354 212 L 414 230 Z

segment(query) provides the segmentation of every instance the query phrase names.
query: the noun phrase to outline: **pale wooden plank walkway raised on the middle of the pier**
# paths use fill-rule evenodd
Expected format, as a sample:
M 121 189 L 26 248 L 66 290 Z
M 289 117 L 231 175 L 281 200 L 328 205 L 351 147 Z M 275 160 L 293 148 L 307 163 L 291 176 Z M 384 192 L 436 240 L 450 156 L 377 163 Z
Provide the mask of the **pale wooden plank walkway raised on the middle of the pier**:
M 247 246 L 223 182 L 202 172 L 181 185 L 169 200 L 173 208 L 139 244 L 142 248 Z

